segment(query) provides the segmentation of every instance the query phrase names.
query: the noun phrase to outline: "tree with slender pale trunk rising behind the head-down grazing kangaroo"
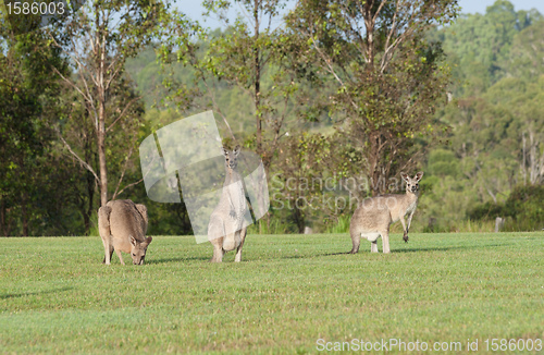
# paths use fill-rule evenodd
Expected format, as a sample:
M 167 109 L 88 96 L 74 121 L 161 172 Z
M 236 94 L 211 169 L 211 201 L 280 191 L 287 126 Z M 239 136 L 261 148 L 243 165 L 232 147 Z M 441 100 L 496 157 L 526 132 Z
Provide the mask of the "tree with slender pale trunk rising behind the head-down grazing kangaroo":
M 126 59 L 161 37 L 168 27 L 164 24 L 169 20 L 169 9 L 166 1 L 92 0 L 50 27 L 51 46 L 67 59 L 72 73 L 63 74 L 59 68 L 54 71 L 78 95 L 92 120 L 98 169 L 63 137 L 62 126 L 59 136 L 70 154 L 95 178 L 101 205 L 112 197 L 108 193 L 107 164 L 110 135 L 116 125 L 123 125 L 123 128 L 115 134 L 127 134 L 131 125 L 124 123 L 135 119 L 135 106 L 140 99 L 136 96 L 120 100 L 115 88 L 119 89 L 125 79 Z M 114 105 L 119 106 L 113 108 Z M 126 160 L 133 150 L 134 146 L 128 149 Z M 124 174 L 120 179 L 122 176 Z

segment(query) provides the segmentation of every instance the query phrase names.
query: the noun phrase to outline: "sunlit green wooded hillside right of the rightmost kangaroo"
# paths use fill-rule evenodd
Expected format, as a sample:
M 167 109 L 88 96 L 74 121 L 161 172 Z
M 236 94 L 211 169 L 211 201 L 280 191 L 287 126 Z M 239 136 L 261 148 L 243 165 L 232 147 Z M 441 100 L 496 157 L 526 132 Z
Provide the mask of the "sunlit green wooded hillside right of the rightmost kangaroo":
M 433 34 L 454 63 L 454 85 L 436 115 L 449 136 L 428 157 L 423 180 L 432 186 L 418 207 L 421 222 L 436 221 L 428 230 L 469 219 L 491 231 L 492 219 L 509 216 L 504 206 L 515 186 L 544 183 L 542 30 L 537 11 L 500 0 Z M 528 221 L 510 217 L 505 229 L 539 228 Z

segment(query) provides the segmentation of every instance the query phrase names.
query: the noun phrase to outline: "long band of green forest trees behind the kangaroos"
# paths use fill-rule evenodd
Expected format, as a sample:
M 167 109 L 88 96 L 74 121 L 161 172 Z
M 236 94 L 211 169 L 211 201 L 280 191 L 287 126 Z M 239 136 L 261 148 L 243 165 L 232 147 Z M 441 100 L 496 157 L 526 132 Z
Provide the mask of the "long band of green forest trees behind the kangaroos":
M 491 231 L 496 217 L 544 228 L 537 11 L 300 1 L 283 17 L 242 3 L 259 11 L 220 30 L 138 2 L 102 44 L 84 16 L 72 33 L 66 19 L 23 35 L 2 17 L 0 234 L 97 234 L 96 211 L 114 198 L 147 205 L 149 234 L 189 234 L 183 204 L 147 198 L 137 147 L 208 109 L 225 145 L 265 166 L 271 210 L 250 232 L 345 232 L 354 201 L 398 193 L 400 171 L 417 170 L 412 230 Z M 104 5 L 94 4 L 79 12 Z M 206 4 L 221 17 L 230 2 Z

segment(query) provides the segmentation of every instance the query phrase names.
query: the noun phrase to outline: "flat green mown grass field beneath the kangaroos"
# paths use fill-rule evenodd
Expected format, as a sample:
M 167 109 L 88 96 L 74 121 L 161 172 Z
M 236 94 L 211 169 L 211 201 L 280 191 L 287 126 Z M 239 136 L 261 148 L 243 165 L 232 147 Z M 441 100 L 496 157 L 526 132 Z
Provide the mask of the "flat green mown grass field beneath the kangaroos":
M 210 244 L 157 236 L 147 265 L 107 267 L 99 237 L 0 238 L 0 353 L 305 354 L 319 339 L 486 353 L 485 339 L 544 338 L 544 233 L 362 243 L 249 235 L 243 262 L 211 265 Z

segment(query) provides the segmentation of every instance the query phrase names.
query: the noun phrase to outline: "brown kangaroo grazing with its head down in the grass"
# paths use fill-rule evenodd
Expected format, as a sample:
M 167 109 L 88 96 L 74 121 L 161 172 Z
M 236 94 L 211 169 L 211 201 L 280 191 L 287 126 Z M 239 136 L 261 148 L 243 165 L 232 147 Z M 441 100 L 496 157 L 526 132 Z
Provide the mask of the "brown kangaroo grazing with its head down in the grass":
M 121 264 L 121 252 L 131 253 L 134 265 L 144 265 L 148 245 L 153 240 L 146 238 L 147 208 L 129 199 L 118 199 L 106 204 L 98 210 L 98 231 L 102 237 L 104 258 L 102 264 L 110 265 L 113 250 Z

